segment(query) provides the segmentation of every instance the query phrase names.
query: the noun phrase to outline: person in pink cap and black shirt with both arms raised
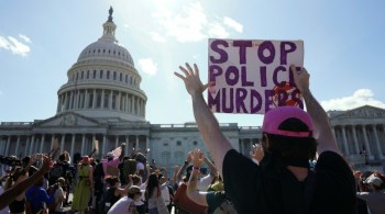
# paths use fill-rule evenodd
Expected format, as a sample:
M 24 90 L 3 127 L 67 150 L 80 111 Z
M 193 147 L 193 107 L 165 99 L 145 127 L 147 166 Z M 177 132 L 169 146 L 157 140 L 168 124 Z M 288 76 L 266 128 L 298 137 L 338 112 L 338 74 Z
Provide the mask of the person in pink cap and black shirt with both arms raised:
M 175 72 L 193 99 L 194 115 L 238 213 L 355 213 L 355 182 L 337 146 L 329 119 L 312 97 L 309 74 L 290 67 L 308 113 L 296 106 L 270 110 L 263 122 L 264 158 L 256 166 L 232 148 L 205 102 L 197 65 Z M 314 123 L 314 124 L 312 124 Z M 318 146 L 316 139 L 318 142 Z M 318 153 L 315 172 L 309 159 Z M 242 176 L 240 176 L 242 174 Z M 338 190 L 338 191 L 336 191 Z

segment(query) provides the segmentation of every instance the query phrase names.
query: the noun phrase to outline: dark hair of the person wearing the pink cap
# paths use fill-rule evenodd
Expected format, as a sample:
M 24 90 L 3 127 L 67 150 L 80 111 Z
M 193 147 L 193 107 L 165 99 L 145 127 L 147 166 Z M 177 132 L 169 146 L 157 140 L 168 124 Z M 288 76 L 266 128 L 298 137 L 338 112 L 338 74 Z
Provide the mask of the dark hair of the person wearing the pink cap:
M 287 119 L 280 123 L 279 129 L 309 132 L 308 126 L 298 119 Z M 266 138 L 268 145 L 266 146 Z M 283 135 L 273 135 L 264 133 L 263 135 L 264 149 L 267 153 L 278 154 L 285 159 L 309 161 L 316 158 L 317 142 L 312 136 L 309 137 L 288 137 Z

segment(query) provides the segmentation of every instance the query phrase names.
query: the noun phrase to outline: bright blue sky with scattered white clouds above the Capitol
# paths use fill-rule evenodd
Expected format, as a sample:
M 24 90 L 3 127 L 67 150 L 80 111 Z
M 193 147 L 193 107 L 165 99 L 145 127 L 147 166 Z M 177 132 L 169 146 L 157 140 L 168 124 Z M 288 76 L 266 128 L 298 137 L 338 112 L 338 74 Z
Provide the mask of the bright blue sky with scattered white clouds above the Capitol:
M 109 7 L 131 53 L 153 124 L 193 122 L 173 72 L 196 63 L 207 81 L 208 38 L 302 40 L 310 88 L 327 110 L 385 109 L 383 1 L 67 0 L 0 3 L 0 122 L 54 116 L 57 90 L 80 52 L 102 34 Z M 216 114 L 261 125 L 261 115 Z

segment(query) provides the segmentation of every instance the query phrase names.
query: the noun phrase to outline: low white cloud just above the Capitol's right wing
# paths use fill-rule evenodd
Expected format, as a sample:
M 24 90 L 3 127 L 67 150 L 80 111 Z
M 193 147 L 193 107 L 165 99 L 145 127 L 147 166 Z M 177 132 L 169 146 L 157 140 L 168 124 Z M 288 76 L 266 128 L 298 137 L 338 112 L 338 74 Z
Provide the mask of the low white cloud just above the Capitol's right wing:
M 362 105 L 373 105 L 385 109 L 385 103 L 375 100 L 370 89 L 359 89 L 352 95 L 322 101 L 321 105 L 326 111 L 329 110 L 351 110 Z

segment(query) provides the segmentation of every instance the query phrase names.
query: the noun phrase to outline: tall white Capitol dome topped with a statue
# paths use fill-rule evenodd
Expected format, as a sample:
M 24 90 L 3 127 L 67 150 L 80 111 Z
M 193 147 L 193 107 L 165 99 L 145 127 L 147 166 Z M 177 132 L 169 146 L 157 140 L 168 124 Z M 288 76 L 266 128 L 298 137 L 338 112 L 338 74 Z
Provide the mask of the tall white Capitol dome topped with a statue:
M 76 112 L 100 122 L 145 121 L 147 98 L 131 54 L 116 38 L 112 8 L 102 36 L 81 50 L 58 90 L 57 114 Z

